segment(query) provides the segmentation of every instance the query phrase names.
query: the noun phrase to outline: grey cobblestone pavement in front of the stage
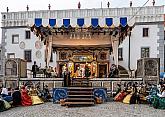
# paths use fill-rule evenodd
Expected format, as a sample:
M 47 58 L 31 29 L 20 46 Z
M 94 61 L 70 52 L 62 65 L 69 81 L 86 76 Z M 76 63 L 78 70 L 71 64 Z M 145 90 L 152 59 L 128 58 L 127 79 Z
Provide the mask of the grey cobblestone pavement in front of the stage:
M 11 108 L 0 117 L 165 117 L 165 110 L 149 105 L 106 102 L 90 107 L 62 107 L 52 102 L 30 107 Z

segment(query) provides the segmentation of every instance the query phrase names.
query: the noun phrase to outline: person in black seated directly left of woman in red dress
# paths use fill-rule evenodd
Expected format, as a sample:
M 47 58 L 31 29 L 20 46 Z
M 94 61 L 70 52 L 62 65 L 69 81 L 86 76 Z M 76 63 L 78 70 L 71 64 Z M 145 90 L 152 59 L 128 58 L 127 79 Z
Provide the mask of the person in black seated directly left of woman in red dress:
M 21 92 L 19 91 L 19 88 L 15 88 L 13 94 L 13 106 L 19 106 L 21 105 Z

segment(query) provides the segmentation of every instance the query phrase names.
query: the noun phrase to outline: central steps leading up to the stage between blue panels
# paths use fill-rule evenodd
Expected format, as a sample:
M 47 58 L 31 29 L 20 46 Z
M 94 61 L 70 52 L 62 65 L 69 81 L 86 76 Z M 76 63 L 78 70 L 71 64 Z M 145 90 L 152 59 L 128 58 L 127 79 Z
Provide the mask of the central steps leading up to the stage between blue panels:
M 89 106 L 94 105 L 93 88 L 91 87 L 70 87 L 68 88 L 68 97 L 65 106 Z

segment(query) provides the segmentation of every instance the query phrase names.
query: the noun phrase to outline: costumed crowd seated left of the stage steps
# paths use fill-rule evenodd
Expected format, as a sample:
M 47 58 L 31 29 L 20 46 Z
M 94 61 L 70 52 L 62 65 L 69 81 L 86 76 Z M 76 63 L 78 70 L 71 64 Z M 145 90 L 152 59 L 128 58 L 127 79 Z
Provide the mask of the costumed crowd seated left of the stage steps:
M 11 107 L 43 104 L 50 101 L 51 98 L 47 85 L 44 86 L 43 90 L 41 90 L 40 86 L 35 87 L 33 85 L 23 85 L 15 89 L 2 87 L 0 90 L 0 112 Z

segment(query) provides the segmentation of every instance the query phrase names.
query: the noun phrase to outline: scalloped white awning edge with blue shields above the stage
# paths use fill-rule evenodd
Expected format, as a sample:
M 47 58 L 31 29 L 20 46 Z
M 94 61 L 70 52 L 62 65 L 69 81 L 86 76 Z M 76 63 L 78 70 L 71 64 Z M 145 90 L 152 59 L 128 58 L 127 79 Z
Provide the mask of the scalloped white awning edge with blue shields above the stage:
M 72 27 L 89 27 L 97 26 L 100 27 L 118 27 L 119 25 L 125 27 L 126 25 L 131 25 L 128 23 L 127 17 L 120 18 L 64 18 L 64 19 L 42 19 L 35 18 L 33 21 L 29 21 L 29 25 L 35 25 L 36 27 L 50 26 L 50 27 L 61 27 L 64 26 L 68 28 Z

